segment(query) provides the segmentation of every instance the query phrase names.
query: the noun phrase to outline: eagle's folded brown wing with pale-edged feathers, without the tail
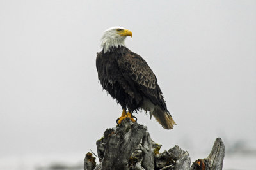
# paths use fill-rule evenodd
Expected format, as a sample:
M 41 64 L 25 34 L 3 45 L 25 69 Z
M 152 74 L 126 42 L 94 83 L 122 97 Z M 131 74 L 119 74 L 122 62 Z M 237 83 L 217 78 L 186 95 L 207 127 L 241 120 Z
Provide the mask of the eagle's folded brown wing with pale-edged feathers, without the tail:
M 140 55 L 128 50 L 118 59 L 118 66 L 132 89 L 140 90 L 154 105 L 168 112 L 157 78 Z

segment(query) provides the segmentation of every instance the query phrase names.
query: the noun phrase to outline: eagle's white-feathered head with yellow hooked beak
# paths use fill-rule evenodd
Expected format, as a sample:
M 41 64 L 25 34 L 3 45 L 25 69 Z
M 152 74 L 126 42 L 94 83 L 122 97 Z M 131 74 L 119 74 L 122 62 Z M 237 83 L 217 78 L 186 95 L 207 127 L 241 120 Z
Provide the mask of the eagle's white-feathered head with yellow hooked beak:
M 124 40 L 127 36 L 132 38 L 132 32 L 123 27 L 111 27 L 104 31 L 101 39 L 104 53 L 108 52 L 111 47 L 125 46 Z

